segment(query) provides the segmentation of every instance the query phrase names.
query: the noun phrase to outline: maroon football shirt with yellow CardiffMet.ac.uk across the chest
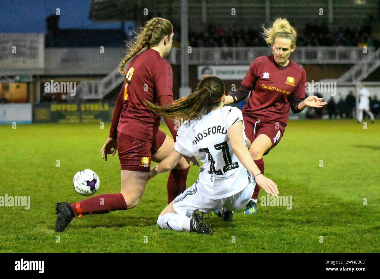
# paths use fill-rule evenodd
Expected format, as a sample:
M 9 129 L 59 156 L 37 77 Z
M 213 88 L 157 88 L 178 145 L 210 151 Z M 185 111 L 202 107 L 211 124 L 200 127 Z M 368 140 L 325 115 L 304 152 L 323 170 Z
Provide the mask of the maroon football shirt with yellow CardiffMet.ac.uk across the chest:
M 282 67 L 273 55 L 261 56 L 252 62 L 241 84 L 252 89 L 243 115 L 286 126 L 291 98 L 305 98 L 306 73 L 291 60 Z

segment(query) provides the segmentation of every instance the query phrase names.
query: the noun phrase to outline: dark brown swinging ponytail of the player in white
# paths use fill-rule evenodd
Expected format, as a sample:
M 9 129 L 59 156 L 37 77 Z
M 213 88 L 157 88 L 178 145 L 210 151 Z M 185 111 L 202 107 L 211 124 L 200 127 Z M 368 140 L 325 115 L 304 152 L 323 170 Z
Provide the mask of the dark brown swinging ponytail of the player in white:
M 163 117 L 196 120 L 220 104 L 224 95 L 224 83 L 218 77 L 204 76 L 197 89 L 165 107 L 145 101 L 147 107 Z

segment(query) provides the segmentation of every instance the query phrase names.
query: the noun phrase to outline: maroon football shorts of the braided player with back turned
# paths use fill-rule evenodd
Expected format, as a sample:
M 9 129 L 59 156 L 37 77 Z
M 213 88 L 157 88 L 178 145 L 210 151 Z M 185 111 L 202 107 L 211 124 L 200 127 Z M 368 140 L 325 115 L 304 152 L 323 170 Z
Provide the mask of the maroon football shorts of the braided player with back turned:
M 149 172 L 152 154 L 157 152 L 165 138 L 166 134 L 158 128 L 154 131 L 152 142 L 145 142 L 117 131 L 120 169 Z

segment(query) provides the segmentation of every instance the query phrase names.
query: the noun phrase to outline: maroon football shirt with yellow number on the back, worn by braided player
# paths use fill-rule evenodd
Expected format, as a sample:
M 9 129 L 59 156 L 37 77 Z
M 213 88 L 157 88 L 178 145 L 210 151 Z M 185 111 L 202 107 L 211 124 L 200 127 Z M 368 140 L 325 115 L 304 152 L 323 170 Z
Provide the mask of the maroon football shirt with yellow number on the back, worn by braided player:
M 149 48 L 131 59 L 126 73 L 130 84 L 125 90 L 124 82 L 120 92 L 123 107 L 117 130 L 150 142 L 154 127 L 160 125 L 160 116 L 146 107 L 144 100 L 157 103 L 160 96 L 168 95 L 173 98 L 173 71 L 159 52 Z M 114 131 L 111 127 L 110 134 L 112 133 Z

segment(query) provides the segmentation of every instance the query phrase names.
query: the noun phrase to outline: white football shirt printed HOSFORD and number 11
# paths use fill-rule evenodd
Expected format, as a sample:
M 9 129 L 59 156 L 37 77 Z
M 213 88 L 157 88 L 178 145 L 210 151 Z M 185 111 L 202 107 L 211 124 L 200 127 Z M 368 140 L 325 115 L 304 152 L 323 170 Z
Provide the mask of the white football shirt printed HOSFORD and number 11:
M 199 120 L 185 121 L 177 131 L 175 150 L 203 162 L 196 189 L 209 199 L 230 197 L 253 182 L 251 174 L 233 154 L 228 139 L 228 128 L 237 121 L 243 121 L 241 110 L 226 106 Z M 242 133 L 247 146 L 244 121 Z

